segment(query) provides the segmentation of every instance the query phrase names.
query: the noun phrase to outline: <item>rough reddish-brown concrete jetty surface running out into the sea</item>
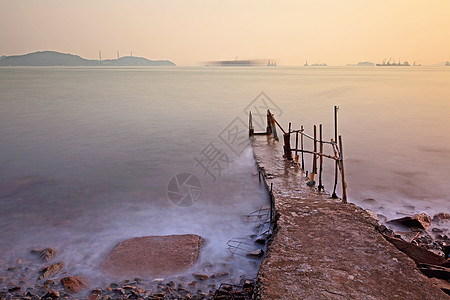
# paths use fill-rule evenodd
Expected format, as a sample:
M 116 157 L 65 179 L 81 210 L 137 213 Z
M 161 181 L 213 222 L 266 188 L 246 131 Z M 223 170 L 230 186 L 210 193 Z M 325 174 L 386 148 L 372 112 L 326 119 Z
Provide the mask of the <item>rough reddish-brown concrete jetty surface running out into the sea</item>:
M 375 230 L 369 213 L 308 187 L 283 159 L 282 143 L 253 136 L 252 146 L 278 217 L 258 273 L 261 299 L 450 299 Z

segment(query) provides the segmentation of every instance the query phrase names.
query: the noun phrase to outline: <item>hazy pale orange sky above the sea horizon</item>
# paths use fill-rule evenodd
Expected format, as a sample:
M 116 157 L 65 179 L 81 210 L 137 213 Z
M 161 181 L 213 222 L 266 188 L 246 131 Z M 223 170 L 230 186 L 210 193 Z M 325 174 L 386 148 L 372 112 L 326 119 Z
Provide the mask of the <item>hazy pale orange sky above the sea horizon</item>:
M 450 60 L 450 0 L 0 0 L 0 56 L 54 50 L 177 65 Z

